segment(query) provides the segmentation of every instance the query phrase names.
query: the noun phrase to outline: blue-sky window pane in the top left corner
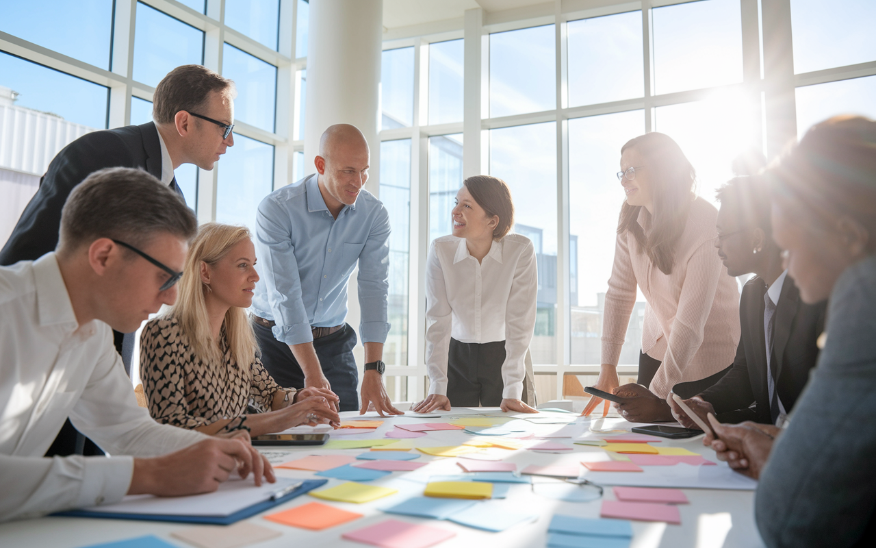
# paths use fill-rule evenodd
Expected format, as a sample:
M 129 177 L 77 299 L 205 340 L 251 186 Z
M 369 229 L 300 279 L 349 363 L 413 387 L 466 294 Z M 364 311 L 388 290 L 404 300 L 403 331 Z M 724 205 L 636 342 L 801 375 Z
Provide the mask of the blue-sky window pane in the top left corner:
M 108 69 L 112 11 L 112 0 L 4 2 L 0 31 Z

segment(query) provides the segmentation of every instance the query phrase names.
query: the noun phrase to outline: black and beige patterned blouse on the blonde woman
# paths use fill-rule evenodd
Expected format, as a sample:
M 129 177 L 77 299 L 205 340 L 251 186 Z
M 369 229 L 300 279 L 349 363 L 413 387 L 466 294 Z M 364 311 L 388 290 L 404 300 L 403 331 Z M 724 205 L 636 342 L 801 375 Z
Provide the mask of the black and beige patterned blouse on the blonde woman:
M 225 367 L 210 367 L 194 355 L 176 319 L 155 318 L 140 335 L 140 379 L 149 413 L 159 423 L 194 429 L 223 418 L 235 418 L 251 405 L 258 412 L 272 409 L 280 388 L 262 366 L 252 362 L 247 380 L 220 334 Z

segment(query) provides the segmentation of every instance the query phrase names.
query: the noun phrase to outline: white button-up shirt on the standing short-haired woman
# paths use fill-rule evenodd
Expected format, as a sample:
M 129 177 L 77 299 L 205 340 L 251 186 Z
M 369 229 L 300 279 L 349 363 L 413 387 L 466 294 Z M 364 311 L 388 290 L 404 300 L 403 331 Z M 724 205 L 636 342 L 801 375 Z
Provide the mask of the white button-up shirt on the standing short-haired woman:
M 479 263 L 465 238 L 443 236 L 426 264 L 426 370 L 429 394 L 447 395 L 450 338 L 461 343 L 505 341 L 503 398 L 520 399 L 524 358 L 535 328 L 538 267 L 532 241 L 508 234 Z

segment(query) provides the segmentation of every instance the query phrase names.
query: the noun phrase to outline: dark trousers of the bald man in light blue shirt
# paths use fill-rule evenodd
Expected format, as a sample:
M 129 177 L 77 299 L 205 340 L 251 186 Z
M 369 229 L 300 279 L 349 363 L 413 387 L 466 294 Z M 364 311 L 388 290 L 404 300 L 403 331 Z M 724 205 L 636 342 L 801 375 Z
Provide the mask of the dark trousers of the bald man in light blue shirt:
M 271 328 L 251 322 L 262 351 L 262 365 L 274 381 L 285 388 L 304 388 L 304 372 L 293 356 L 289 345 L 274 338 Z M 316 357 L 320 359 L 322 374 L 331 384 L 332 392 L 341 399 L 338 409 L 357 411 L 359 373 L 353 347 L 356 346 L 356 331 L 350 324 L 327 337 L 314 338 Z

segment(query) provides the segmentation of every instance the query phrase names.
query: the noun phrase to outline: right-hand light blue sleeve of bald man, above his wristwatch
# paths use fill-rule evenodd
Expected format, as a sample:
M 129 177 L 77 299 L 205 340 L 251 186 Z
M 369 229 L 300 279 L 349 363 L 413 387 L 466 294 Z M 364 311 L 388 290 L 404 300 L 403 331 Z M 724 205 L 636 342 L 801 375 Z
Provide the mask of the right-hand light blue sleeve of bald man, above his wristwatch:
M 359 253 L 359 307 L 362 316 L 359 335 L 363 343 L 385 343 L 390 324 L 387 316 L 389 294 L 389 214 L 381 205 L 362 253 Z

